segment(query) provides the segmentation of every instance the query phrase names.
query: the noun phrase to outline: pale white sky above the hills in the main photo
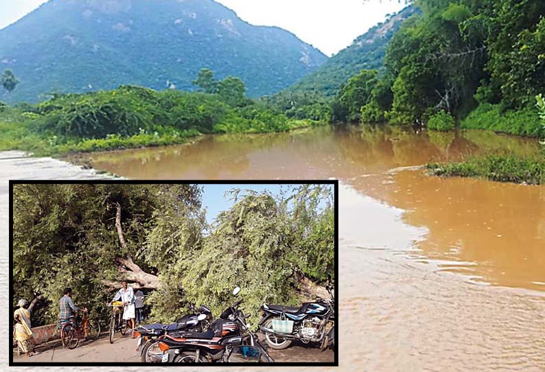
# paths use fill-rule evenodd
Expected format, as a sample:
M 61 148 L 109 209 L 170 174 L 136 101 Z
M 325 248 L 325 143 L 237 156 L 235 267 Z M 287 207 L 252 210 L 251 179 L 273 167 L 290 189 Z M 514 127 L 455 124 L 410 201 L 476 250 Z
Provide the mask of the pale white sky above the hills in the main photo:
M 293 32 L 327 56 L 398 12 L 405 0 L 218 0 L 253 25 L 278 26 Z M 0 29 L 14 23 L 45 0 L 0 0 Z

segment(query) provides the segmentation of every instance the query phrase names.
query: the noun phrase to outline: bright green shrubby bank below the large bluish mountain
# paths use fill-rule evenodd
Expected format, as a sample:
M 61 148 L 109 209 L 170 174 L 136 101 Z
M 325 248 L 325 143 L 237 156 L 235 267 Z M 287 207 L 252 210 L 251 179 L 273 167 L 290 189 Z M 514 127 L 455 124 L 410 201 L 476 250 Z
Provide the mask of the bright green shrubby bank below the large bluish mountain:
M 220 95 L 113 91 L 56 95 L 40 104 L 0 107 L 0 150 L 36 156 L 185 143 L 207 133 L 285 132 L 325 121 L 288 118 L 253 100 L 233 104 Z

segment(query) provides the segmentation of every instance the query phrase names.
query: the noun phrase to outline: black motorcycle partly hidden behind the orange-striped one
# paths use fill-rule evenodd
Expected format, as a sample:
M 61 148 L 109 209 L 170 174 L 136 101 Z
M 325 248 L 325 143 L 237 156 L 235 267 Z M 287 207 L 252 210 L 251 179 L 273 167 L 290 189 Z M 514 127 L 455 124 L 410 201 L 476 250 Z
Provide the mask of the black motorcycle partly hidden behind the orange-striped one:
M 201 305 L 195 309 L 191 306 L 190 310 L 192 314 L 182 316 L 175 323 L 140 325 L 135 329 L 135 336 L 138 338 L 137 351 L 140 351 L 142 362 L 161 361 L 161 350 L 156 347 L 159 336 L 181 331 L 203 332 L 209 327 L 213 317 L 208 307 Z

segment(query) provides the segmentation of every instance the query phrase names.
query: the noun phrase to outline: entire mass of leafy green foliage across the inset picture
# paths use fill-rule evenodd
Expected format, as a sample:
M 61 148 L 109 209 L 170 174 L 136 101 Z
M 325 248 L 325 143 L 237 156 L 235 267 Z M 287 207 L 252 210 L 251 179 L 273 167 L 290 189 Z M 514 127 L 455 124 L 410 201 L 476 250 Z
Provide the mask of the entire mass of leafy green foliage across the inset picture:
M 147 303 L 152 320 L 164 322 L 183 315 L 188 301 L 218 315 L 235 286 L 244 310 L 257 317 L 264 301 L 300 301 L 303 276 L 321 282 L 334 275 L 329 187 L 232 195 L 233 206 L 207 226 L 195 185 L 15 185 L 12 303 L 45 294 L 49 305 L 33 322 L 52 322 L 62 288 L 71 286 L 78 305 L 107 318 L 108 281 L 131 281 L 116 257 L 132 257 L 159 277 Z M 126 248 L 115 229 L 116 202 Z

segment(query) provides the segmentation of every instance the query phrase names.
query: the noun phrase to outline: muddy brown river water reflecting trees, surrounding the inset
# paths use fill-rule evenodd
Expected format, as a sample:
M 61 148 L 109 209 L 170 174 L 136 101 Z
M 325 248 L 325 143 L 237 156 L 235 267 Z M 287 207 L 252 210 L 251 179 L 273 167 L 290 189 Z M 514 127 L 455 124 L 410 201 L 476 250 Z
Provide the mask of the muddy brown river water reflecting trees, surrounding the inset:
M 419 167 L 539 146 L 479 131 L 318 128 L 90 158 L 138 179 L 338 178 L 343 371 L 545 371 L 545 187 Z

